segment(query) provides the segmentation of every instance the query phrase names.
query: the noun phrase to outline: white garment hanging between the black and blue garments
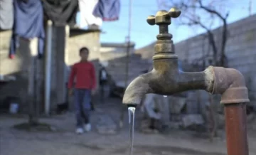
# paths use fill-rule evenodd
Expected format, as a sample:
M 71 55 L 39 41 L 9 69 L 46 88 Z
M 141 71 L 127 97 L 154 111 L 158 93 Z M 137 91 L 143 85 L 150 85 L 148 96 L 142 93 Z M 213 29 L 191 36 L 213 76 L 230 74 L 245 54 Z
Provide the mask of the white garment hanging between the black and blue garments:
M 102 18 L 94 16 L 92 13 L 99 0 L 79 0 L 80 17 L 78 26 L 85 28 L 87 26 L 102 26 Z

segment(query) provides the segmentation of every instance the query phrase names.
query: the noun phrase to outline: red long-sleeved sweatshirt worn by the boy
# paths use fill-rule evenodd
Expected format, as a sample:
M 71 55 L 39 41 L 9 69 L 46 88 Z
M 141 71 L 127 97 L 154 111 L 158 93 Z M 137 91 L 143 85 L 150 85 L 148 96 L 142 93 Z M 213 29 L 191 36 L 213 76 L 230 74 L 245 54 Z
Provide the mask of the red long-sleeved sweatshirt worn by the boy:
M 96 78 L 94 65 L 90 62 L 75 63 L 75 65 L 72 67 L 70 78 L 68 80 L 68 88 L 73 87 L 75 78 L 75 88 L 90 90 L 95 89 Z

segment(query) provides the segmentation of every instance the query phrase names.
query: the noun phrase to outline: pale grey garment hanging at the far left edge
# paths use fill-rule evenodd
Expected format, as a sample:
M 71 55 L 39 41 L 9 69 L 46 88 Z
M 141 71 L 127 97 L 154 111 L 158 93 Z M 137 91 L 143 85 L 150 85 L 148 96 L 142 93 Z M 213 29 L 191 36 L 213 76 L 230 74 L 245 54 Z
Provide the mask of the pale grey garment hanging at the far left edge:
M 0 0 L 0 29 L 8 30 L 14 26 L 13 0 Z

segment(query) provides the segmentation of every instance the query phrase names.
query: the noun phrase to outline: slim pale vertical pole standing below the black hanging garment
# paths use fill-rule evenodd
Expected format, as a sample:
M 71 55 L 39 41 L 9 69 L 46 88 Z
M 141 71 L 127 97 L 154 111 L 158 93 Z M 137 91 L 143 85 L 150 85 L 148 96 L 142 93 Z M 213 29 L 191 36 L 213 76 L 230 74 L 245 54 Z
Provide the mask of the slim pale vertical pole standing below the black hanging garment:
M 45 59 L 45 93 L 44 93 L 44 109 L 46 115 L 50 114 L 50 75 L 51 75 L 51 56 L 52 56 L 52 37 L 53 22 L 47 21 L 46 36 L 46 59 Z

